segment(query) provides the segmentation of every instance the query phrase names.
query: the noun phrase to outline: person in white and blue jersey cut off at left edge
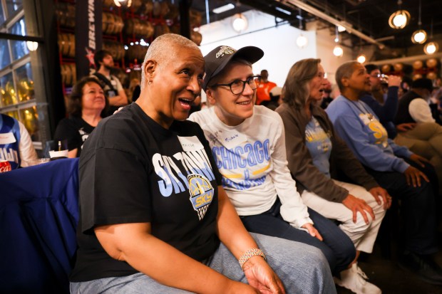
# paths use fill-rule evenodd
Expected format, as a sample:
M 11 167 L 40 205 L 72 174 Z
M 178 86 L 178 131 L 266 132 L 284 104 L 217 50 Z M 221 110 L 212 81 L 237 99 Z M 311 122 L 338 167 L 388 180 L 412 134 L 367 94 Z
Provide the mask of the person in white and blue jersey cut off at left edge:
M 7 161 L 11 169 L 28 167 L 38 159 L 26 127 L 14 117 L 0 113 L 0 161 Z

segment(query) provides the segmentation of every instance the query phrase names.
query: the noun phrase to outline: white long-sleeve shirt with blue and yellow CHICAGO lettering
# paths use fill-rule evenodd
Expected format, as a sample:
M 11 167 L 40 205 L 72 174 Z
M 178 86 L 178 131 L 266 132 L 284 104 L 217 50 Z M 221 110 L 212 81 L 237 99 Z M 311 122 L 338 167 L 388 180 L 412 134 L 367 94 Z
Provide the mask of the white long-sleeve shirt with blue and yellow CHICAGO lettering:
M 313 224 L 287 168 L 281 117 L 255 106 L 240 125 L 225 125 L 209 107 L 190 115 L 200 124 L 222 174 L 222 186 L 240 216 L 262 214 L 277 196 L 284 221 L 295 228 Z

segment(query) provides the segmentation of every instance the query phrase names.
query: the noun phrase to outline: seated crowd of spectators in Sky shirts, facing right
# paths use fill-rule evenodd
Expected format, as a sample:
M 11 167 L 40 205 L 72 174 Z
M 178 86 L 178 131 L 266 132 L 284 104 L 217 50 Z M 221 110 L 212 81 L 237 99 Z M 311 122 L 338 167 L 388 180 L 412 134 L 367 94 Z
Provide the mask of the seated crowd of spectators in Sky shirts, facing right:
M 256 99 L 267 70 L 252 69 L 263 56 L 254 46 L 202 56 L 164 34 L 145 56 L 139 98 L 108 117 L 100 77 L 76 83 L 54 135 L 80 157 L 71 293 L 336 293 L 335 283 L 381 293 L 358 258 L 396 199 L 400 266 L 442 285 L 431 80 L 399 99 L 391 76 L 380 100 L 379 68 L 351 61 L 336 70 L 332 99 L 321 60 L 308 58 L 265 107 Z M 193 112 L 201 90 L 207 107 Z

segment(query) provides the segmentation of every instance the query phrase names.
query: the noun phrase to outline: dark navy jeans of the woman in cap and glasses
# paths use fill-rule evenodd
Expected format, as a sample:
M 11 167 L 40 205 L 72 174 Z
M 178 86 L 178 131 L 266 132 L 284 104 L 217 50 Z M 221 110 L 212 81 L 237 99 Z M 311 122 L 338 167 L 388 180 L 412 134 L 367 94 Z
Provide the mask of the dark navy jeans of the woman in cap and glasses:
M 279 213 L 280 207 L 281 202 L 277 199 L 272 208 L 263 214 L 241 216 L 242 224 L 247 231 L 297 241 L 319 248 L 327 258 L 334 275 L 348 268 L 351 261 L 354 261 L 356 256 L 354 243 L 332 221 L 313 209 L 308 209 L 314 227 L 324 238 L 324 241 L 319 241 L 306 231 L 296 229 L 284 221 Z

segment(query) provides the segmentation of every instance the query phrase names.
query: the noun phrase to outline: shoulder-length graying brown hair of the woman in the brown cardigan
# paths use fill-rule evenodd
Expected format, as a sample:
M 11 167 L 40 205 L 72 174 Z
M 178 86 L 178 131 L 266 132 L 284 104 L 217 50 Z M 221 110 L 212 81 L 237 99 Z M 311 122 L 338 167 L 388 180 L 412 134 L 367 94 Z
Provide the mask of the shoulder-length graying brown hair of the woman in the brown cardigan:
M 310 95 L 309 81 L 317 75 L 319 63 L 319 58 L 307 58 L 292 65 L 283 87 L 285 103 L 304 107 Z

